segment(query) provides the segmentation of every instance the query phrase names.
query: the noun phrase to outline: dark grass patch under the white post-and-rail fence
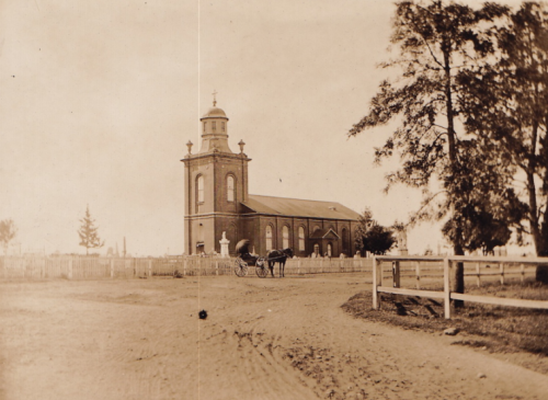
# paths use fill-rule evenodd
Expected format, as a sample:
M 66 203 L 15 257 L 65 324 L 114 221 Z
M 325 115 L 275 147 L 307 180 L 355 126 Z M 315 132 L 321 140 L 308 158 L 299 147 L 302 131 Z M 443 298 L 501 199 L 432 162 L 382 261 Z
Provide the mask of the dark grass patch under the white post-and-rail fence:
M 514 283 L 505 286 L 491 283 L 480 288 L 469 285 L 467 293 L 548 300 L 548 286 L 530 281 L 524 285 Z M 456 328 L 460 332 L 481 336 L 481 340 L 461 340 L 454 344 L 486 347 L 491 352 L 526 351 L 548 356 L 548 310 L 468 301 L 464 308 L 453 309 L 452 319 L 446 320 L 442 301 L 381 294 L 381 309 L 373 310 L 372 297 L 372 292 L 361 292 L 352 296 L 342 308 L 356 318 L 388 322 L 404 329 L 442 333 L 447 328 Z

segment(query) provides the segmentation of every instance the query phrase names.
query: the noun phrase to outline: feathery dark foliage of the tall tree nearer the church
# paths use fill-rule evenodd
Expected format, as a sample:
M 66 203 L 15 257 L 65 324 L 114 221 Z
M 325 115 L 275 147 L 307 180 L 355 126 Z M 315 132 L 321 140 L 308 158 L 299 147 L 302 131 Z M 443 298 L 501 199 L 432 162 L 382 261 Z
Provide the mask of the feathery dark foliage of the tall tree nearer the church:
M 444 233 L 455 254 L 482 242 L 477 238 L 481 226 L 473 224 L 476 215 L 504 226 L 515 222 L 514 216 L 507 221 L 507 214 L 495 213 L 505 204 L 492 203 L 506 198 L 515 203 L 503 181 L 511 174 L 505 171 L 510 164 L 490 159 L 488 149 L 479 148 L 483 142 L 456 130 L 457 119 L 466 116 L 463 99 L 469 90 L 459 77 L 492 54 L 494 21 L 507 12 L 492 3 L 480 10 L 443 1 L 397 3 L 391 42 L 400 55 L 384 67 L 400 67 L 401 76 L 381 82 L 368 114 L 349 132 L 354 136 L 400 121 L 385 146 L 376 149 L 376 162 L 395 153 L 401 159 L 401 168 L 387 175 L 387 190 L 395 183 L 422 187 L 423 204 L 411 222 L 448 218 Z M 429 191 L 432 182 L 439 184 L 435 193 Z M 481 191 L 489 195 L 482 194 L 477 182 L 482 182 Z

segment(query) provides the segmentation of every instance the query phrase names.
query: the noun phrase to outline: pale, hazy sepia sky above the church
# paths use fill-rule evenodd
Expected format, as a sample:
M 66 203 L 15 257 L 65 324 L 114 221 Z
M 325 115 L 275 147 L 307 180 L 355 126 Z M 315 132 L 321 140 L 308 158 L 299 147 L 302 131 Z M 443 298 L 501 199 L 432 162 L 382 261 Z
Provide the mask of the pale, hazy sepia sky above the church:
M 468 2 L 475 3 L 475 2 Z M 393 126 L 347 138 L 388 72 L 395 5 L 374 0 L 0 0 L 0 220 L 23 252 L 85 253 L 85 208 L 133 255 L 183 252 L 185 144 L 229 117 L 251 194 L 406 221 L 420 193 L 373 164 Z M 439 228 L 408 233 L 436 250 Z

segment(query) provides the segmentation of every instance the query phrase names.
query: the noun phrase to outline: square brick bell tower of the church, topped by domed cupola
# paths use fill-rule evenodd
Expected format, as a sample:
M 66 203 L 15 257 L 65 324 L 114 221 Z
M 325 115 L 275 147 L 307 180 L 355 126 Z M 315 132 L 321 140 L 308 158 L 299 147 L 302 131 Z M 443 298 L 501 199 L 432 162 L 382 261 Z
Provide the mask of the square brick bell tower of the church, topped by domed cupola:
M 184 252 L 186 254 L 220 253 L 222 232 L 230 241 L 229 251 L 238 240 L 241 202 L 248 198 L 248 162 L 251 159 L 235 153 L 228 146 L 228 117 L 217 107 L 214 92 L 213 107 L 199 118 L 202 144 L 192 153 L 189 140 L 184 162 Z

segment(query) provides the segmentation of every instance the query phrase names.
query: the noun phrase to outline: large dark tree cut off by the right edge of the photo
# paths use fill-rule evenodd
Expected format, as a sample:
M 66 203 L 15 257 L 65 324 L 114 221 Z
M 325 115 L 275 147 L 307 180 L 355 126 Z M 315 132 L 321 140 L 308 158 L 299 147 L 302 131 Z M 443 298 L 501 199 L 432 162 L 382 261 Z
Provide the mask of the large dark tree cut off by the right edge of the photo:
M 464 76 L 470 92 L 469 132 L 494 144 L 501 160 L 516 169 L 528 233 L 537 255 L 548 255 L 548 8 L 524 2 L 498 32 L 500 59 Z

